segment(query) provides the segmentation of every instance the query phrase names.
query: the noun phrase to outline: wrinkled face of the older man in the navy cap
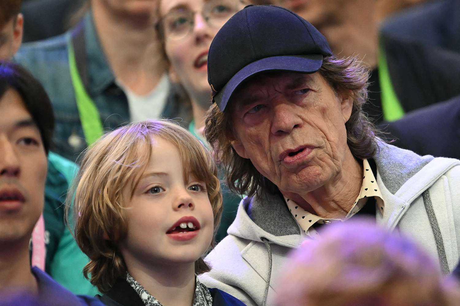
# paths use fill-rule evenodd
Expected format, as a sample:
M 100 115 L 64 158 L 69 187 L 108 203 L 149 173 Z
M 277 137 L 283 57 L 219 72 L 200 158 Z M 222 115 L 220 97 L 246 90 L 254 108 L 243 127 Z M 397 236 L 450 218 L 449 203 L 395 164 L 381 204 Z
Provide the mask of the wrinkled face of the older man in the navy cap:
M 258 75 L 230 104 L 236 152 L 282 192 L 303 194 L 338 177 L 352 99 L 318 73 Z

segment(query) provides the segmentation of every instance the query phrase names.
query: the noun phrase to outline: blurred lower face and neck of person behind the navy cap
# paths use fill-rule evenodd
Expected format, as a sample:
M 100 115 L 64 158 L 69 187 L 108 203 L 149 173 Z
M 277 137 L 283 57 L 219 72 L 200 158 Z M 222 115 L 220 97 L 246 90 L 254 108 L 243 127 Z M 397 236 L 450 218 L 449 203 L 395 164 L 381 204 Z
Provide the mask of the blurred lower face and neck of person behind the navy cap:
M 313 24 L 335 55 L 358 55 L 377 64 L 378 23 L 390 14 L 425 0 L 274 0 Z

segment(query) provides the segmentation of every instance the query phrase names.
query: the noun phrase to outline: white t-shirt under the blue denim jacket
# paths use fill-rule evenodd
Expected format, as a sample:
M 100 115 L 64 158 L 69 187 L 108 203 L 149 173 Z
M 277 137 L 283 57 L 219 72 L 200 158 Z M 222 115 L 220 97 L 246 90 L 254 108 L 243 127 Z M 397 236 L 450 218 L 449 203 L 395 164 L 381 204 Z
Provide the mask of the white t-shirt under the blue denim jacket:
M 123 89 L 128 99 L 131 121 L 157 119 L 161 117 L 169 92 L 169 78 L 166 73 L 163 74 L 155 88 L 147 95 L 137 95 L 133 93 L 118 79 L 115 83 Z

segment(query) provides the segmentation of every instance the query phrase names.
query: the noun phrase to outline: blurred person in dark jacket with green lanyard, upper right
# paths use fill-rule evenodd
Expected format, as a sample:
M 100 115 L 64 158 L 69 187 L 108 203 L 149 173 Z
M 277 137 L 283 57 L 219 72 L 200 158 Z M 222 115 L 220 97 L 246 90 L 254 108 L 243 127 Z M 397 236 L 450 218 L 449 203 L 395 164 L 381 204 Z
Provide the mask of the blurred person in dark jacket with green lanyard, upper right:
M 456 33 L 459 1 L 426 0 L 276 0 L 282 6 L 310 21 L 326 36 L 335 54 L 357 55 L 372 68 L 369 78 L 369 103 L 364 106 L 377 123 L 394 121 L 409 111 L 448 100 L 460 94 L 457 80 L 460 61 L 457 56 L 432 47 Z M 426 5 L 422 4 L 427 2 Z M 444 2 L 442 5 L 440 3 Z M 449 2 L 449 4 L 447 4 Z M 446 5 L 447 4 L 447 5 Z M 414 19 L 412 27 L 394 23 L 393 15 L 406 9 L 418 11 L 433 7 L 435 18 Z M 439 9 L 440 6 L 445 9 Z M 421 17 L 421 16 L 420 16 Z M 436 20 L 435 20 L 436 19 Z M 383 28 L 380 28 L 380 27 Z M 422 30 L 423 29 L 423 30 Z M 419 34 L 404 35 L 408 31 Z M 436 33 L 436 35 L 432 35 Z M 417 36 L 425 41 L 417 43 Z M 426 41 L 429 41 L 426 43 Z M 456 44 L 453 36 L 448 44 Z

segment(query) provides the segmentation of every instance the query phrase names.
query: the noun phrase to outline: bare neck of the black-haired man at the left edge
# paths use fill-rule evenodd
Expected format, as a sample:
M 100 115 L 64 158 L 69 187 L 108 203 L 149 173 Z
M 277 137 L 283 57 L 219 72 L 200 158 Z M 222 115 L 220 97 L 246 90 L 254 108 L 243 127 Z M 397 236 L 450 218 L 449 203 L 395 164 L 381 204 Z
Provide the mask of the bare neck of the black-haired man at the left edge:
M 38 294 L 37 281 L 30 271 L 29 240 L 0 243 L 0 292 L 11 289 Z M 0 293 L 1 295 L 1 293 Z

